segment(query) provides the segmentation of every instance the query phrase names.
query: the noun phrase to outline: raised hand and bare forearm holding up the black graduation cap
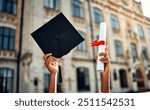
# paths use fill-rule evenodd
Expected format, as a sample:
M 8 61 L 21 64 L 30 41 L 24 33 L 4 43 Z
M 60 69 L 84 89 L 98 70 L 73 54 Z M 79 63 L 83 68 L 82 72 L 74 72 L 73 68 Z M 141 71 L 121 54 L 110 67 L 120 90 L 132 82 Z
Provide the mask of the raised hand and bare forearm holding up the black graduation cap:
M 44 56 L 45 66 L 50 72 L 50 85 L 49 93 L 57 92 L 57 72 L 58 72 L 58 58 L 52 56 L 52 54 L 46 54 Z

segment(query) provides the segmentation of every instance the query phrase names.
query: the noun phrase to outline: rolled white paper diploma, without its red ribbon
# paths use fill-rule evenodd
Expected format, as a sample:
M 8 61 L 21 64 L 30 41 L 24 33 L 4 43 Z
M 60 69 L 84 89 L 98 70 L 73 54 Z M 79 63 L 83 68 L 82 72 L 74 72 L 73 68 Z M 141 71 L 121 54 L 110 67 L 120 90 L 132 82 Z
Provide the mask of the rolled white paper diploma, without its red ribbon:
M 99 41 L 104 41 L 104 45 L 98 46 L 98 54 L 105 52 L 105 43 L 106 43 L 106 22 L 100 23 L 100 31 L 99 31 Z M 97 61 L 97 71 L 104 71 L 104 63 L 101 63 L 100 56 L 98 56 Z

